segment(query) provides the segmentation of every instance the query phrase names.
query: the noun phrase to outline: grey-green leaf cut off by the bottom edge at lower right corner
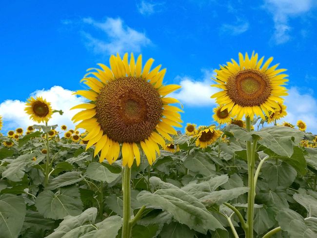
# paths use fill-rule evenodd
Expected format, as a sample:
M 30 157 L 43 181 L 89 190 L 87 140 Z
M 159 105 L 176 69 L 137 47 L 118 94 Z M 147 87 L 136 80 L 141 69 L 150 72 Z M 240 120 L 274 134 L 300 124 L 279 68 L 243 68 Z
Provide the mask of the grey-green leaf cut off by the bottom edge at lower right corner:
M 316 237 L 304 222 L 304 218 L 291 209 L 282 209 L 276 216 L 282 231 L 286 231 L 290 238 Z

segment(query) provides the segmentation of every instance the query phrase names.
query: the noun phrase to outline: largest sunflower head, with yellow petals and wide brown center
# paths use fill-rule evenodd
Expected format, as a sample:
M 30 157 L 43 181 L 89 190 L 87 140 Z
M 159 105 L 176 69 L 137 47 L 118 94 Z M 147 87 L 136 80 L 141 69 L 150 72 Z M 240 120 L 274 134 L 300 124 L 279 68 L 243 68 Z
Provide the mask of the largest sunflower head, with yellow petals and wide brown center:
M 101 151 L 100 162 L 106 158 L 113 163 L 121 150 L 123 166 L 131 167 L 134 157 L 139 165 L 139 149 L 142 149 L 152 164 L 156 152 L 159 154 L 158 144 L 165 146 L 163 137 L 172 140 L 169 134 L 177 134 L 172 126 L 181 127 L 178 113 L 181 110 L 169 105 L 178 100 L 165 97 L 180 86 L 164 86 L 166 69 L 159 71 L 161 65 L 158 65 L 150 71 L 153 62 L 149 59 L 142 70 L 141 55 L 135 62 L 131 54 L 130 63 L 127 53 L 123 59 L 119 54 L 112 55 L 111 69 L 99 64 L 101 69 L 96 68 L 96 72 L 90 72 L 82 79 L 90 89 L 79 90 L 76 94 L 90 102 L 73 107 L 84 110 L 72 120 L 81 121 L 77 128 L 88 131 L 83 138 L 88 141 L 86 150 L 96 144 L 95 156 Z

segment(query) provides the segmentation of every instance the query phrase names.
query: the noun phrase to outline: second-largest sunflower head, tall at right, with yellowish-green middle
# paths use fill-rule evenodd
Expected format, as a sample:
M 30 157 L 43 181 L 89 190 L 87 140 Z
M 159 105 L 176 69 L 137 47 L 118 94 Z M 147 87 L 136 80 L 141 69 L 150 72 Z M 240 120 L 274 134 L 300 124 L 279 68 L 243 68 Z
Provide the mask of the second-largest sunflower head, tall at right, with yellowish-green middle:
M 227 109 L 237 119 L 243 115 L 251 118 L 258 115 L 265 120 L 264 114 L 269 117 L 269 111 L 280 109 L 281 96 L 288 95 L 282 86 L 288 81 L 285 79 L 288 75 L 280 74 L 286 69 L 276 69 L 278 64 L 269 68 L 273 57 L 262 65 L 263 59 L 258 60 L 258 54 L 254 52 L 251 58 L 247 53 L 244 58 L 239 53 L 239 64 L 232 59 L 232 63 L 227 62 L 225 66 L 220 65 L 220 70 L 215 70 L 217 76 L 214 80 L 218 84 L 212 87 L 222 90 L 211 97 L 223 106 L 222 111 Z

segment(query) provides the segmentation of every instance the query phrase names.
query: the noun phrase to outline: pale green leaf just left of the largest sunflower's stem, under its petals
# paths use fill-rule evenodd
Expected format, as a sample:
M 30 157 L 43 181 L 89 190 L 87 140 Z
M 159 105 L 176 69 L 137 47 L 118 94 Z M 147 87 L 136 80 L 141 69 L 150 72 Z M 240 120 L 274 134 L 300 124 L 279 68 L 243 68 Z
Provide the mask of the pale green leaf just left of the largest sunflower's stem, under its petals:
M 93 162 L 89 164 L 86 175 L 96 181 L 111 183 L 115 181 L 121 174 L 111 173 L 102 163 Z

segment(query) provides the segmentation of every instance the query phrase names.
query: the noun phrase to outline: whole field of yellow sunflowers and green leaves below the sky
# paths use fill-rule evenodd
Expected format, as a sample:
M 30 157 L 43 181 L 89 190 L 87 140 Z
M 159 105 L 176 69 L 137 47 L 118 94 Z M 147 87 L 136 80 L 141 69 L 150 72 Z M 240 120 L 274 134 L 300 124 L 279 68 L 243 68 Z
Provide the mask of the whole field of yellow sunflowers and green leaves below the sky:
M 183 122 L 180 86 L 141 55 L 88 70 L 74 128 L 31 97 L 35 125 L 0 135 L 0 238 L 317 237 L 317 137 L 278 125 L 288 75 L 272 61 L 215 70 L 212 125 Z

